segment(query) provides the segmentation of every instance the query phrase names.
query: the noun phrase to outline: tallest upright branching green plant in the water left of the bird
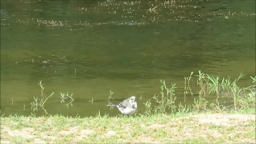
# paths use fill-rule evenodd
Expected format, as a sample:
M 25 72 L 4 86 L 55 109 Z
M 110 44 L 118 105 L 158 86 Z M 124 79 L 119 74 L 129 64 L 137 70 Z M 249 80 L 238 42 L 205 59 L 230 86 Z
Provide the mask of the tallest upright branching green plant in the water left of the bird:
M 49 96 L 46 97 L 46 95 L 44 94 L 44 84 L 42 83 L 42 80 L 39 81 L 39 86 L 41 88 L 41 98 L 38 97 L 34 97 L 34 102 L 31 102 L 31 109 L 33 110 L 33 112 L 38 111 L 38 107 L 42 108 L 42 110 L 44 110 L 44 112 L 47 113 L 46 109 L 44 109 L 44 104 L 45 102 L 54 94 L 54 92 L 52 92 Z

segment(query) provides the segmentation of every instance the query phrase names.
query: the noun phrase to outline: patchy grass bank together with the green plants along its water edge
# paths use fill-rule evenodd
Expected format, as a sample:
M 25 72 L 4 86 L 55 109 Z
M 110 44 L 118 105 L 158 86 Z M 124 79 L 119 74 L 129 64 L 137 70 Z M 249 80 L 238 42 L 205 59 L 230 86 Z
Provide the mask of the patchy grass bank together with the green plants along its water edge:
M 192 95 L 189 77 L 185 77 L 184 98 Z M 95 117 L 76 118 L 51 116 L 44 108 L 48 97 L 44 95 L 42 81 L 41 97 L 34 98 L 29 117 L 1 116 L 1 144 L 4 143 L 256 143 L 255 117 L 256 77 L 251 77 L 254 85 L 246 88 L 238 86 L 242 74 L 233 82 L 230 78 L 209 76 L 198 72 L 200 87 L 198 99 L 190 106 L 177 106 L 175 84 L 168 88 L 161 81 L 161 92 L 152 100 L 144 102 L 145 112 L 136 116 L 109 117 L 100 112 Z M 110 91 L 108 101 L 112 99 Z M 205 97 L 216 94 L 216 102 L 209 103 Z M 72 94 L 62 94 L 71 99 Z M 223 106 L 219 98 L 229 96 L 233 104 Z M 153 103 L 154 102 L 154 105 Z M 36 117 L 38 109 L 46 116 Z

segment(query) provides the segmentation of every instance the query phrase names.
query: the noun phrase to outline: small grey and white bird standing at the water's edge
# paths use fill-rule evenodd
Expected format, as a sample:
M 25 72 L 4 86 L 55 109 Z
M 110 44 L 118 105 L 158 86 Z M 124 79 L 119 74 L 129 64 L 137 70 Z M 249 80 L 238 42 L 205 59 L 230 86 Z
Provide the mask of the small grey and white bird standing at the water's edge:
M 135 101 L 135 99 L 135 96 L 131 96 L 130 98 L 127 98 L 119 104 L 108 104 L 107 106 L 115 106 L 122 114 L 130 116 L 134 114 L 137 110 L 137 102 Z

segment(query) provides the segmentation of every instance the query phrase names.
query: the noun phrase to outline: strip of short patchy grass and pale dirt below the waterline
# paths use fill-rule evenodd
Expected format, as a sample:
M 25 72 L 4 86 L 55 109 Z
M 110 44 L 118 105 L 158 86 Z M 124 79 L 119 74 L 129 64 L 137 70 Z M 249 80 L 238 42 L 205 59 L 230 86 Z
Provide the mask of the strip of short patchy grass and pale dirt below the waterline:
M 253 111 L 251 111 L 253 112 Z M 8 143 L 255 143 L 254 114 L 1 118 Z

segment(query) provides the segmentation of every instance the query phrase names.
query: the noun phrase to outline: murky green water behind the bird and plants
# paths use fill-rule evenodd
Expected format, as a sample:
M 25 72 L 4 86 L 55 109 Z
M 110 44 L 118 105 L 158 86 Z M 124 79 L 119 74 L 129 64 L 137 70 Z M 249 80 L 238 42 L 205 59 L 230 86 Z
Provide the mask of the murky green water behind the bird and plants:
M 115 116 L 118 110 L 106 107 L 110 90 L 116 103 L 142 96 L 141 113 L 143 102 L 160 94 L 160 80 L 176 84 L 177 104 L 192 104 L 196 77 L 195 95 L 184 102 L 184 77 L 191 71 L 232 80 L 243 72 L 242 86 L 256 73 L 254 0 L 0 4 L 1 115 L 30 115 L 39 80 L 46 95 L 55 92 L 45 105 L 49 114 Z M 59 99 L 67 91 L 75 99 L 68 108 Z

